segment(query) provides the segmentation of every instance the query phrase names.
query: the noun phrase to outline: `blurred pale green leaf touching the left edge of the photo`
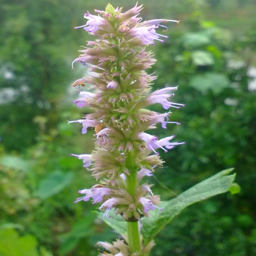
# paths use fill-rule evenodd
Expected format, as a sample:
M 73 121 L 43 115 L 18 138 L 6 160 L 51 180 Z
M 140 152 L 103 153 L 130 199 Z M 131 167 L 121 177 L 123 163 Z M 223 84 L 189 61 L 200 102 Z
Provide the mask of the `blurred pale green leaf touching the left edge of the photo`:
M 7 168 L 16 169 L 23 172 L 28 172 L 31 169 L 28 161 L 22 159 L 21 157 L 14 157 L 11 155 L 1 157 L 0 163 Z

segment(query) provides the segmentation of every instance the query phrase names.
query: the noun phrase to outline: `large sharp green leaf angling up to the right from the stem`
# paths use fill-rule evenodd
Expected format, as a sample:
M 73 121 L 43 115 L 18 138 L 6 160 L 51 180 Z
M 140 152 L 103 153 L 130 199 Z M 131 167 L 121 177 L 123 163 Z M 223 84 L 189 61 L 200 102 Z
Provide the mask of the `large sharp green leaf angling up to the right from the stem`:
M 141 223 L 143 225 L 142 235 L 145 239 L 145 244 L 154 239 L 154 236 L 184 208 L 213 195 L 229 191 L 236 176 L 236 174 L 227 175 L 231 171 L 233 171 L 233 168 L 221 171 L 207 180 L 192 186 L 176 198 L 164 202 L 162 211 L 155 209 L 152 213 L 150 212 L 151 218 L 143 217 Z

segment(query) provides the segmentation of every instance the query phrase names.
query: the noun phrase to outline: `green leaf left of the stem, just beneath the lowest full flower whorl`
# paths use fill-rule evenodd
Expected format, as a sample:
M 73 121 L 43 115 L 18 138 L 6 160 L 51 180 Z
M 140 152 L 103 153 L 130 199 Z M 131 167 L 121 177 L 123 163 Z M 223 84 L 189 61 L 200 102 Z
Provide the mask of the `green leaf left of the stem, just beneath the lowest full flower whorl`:
M 102 218 L 102 220 L 108 224 L 110 227 L 113 228 L 114 231 L 116 231 L 117 233 L 121 234 L 121 235 L 126 235 L 127 233 L 127 222 L 122 218 L 122 216 L 119 215 L 115 215 L 114 213 L 114 209 L 111 209 L 108 212 L 108 216 L 103 218 L 104 212 L 97 212 L 98 217 Z

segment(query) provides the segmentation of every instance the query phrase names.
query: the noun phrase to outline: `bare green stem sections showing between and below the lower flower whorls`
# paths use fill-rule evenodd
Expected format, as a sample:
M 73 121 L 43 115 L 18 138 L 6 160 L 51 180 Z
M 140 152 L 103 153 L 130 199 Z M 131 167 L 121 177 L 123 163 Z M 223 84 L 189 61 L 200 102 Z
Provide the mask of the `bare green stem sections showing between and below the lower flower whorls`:
M 135 189 L 137 187 L 137 166 L 134 163 L 134 152 L 130 151 L 128 157 L 126 158 L 126 166 L 129 169 L 129 175 L 127 177 L 127 191 L 134 197 Z M 140 247 L 140 232 L 138 221 L 127 222 L 128 225 L 128 244 L 130 247 L 130 252 L 141 252 Z

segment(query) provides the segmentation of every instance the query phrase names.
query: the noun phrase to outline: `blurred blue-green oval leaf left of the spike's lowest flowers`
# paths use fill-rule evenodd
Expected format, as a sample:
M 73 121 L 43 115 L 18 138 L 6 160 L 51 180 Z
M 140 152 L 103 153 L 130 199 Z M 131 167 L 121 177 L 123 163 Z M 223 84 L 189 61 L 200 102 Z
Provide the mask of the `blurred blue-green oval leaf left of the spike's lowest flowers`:
M 61 192 L 61 190 L 69 185 L 72 180 L 73 172 L 63 173 L 61 171 L 55 171 L 41 181 L 36 196 L 41 199 L 49 198 L 50 196 Z

